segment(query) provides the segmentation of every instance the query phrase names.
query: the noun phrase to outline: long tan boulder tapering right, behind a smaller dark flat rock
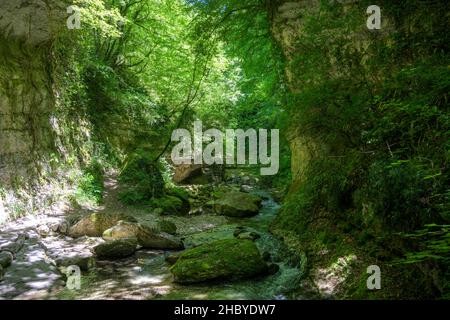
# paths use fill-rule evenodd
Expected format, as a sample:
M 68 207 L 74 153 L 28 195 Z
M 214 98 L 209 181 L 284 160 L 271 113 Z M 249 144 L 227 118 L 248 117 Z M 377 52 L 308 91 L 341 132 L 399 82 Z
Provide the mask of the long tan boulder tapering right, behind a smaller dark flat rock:
M 135 239 L 138 244 L 147 249 L 183 249 L 183 242 L 158 227 L 139 223 L 119 221 L 117 225 L 103 232 L 107 241 L 119 239 Z

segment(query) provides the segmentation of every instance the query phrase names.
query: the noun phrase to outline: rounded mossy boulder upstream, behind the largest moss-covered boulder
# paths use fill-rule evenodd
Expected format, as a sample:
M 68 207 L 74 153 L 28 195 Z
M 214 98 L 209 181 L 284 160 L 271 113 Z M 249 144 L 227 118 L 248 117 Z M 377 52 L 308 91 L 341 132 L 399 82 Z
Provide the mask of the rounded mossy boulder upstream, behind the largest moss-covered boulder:
M 262 199 L 240 191 L 223 193 L 214 201 L 214 211 L 228 217 L 251 217 L 258 214 Z

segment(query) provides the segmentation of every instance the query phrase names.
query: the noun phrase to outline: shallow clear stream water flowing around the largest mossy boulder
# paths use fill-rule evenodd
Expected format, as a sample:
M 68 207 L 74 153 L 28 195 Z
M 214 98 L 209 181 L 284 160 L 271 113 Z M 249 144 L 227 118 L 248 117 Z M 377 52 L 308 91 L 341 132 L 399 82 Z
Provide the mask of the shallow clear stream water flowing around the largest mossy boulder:
M 187 247 L 216 239 L 233 238 L 236 226 L 258 232 L 256 244 L 269 252 L 280 270 L 274 275 L 253 279 L 180 285 L 172 280 L 165 256 L 170 251 L 140 250 L 135 256 L 113 262 L 98 262 L 82 275 L 81 290 L 60 290 L 53 298 L 65 299 L 287 299 L 298 287 L 299 259 L 274 238 L 268 228 L 279 205 L 265 191 L 255 191 L 265 200 L 260 213 L 251 218 L 229 219 L 210 230 L 185 235 Z M 207 217 L 205 217 L 207 219 Z

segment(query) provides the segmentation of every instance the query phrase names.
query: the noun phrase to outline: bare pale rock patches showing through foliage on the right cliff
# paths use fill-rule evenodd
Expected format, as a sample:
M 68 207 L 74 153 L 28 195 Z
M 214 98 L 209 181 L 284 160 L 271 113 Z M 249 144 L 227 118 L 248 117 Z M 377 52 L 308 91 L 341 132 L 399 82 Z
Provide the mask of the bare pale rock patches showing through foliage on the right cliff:
M 337 13 L 337 17 L 342 18 L 345 23 L 346 12 L 354 9 L 357 6 L 358 0 L 342 0 L 342 1 L 329 1 L 328 6 L 330 11 L 334 10 Z M 340 39 L 343 51 L 348 50 L 354 52 L 360 52 L 367 48 L 368 34 L 365 30 L 366 15 L 365 7 L 360 6 L 359 16 L 360 19 L 355 29 L 352 29 L 351 18 L 349 18 L 349 25 L 347 28 L 343 28 L 341 25 L 333 25 L 333 16 L 328 18 L 330 22 L 329 26 L 321 26 L 321 36 L 329 39 L 324 39 L 324 43 L 314 44 L 309 42 L 310 28 L 313 26 L 312 19 L 316 19 L 322 15 L 320 12 L 320 3 L 318 0 L 296 0 L 296 1 L 276 1 L 272 5 L 272 34 L 275 40 L 281 46 L 286 59 L 285 75 L 287 84 L 292 93 L 302 93 L 302 89 L 306 86 L 314 84 L 320 85 L 320 80 L 305 76 L 304 71 L 311 71 L 317 68 L 317 74 L 321 74 L 323 71 L 326 73 L 329 79 L 338 79 L 345 73 L 345 69 L 341 69 L 342 63 L 340 57 L 335 56 L 333 46 L 335 46 Z M 353 13 L 358 14 L 358 11 Z M 351 16 L 353 13 L 348 13 Z M 338 19 L 339 19 L 338 18 Z M 323 18 L 324 20 L 326 18 Z M 318 19 L 319 20 L 319 19 Z M 383 19 L 383 26 L 386 26 L 387 20 Z M 319 22 L 318 22 L 319 23 Z M 339 22 L 342 23 L 342 22 Z M 382 34 L 386 32 L 387 28 L 378 32 Z M 349 32 L 350 31 L 350 32 Z M 334 42 L 335 41 L 335 42 Z M 325 48 L 319 54 L 317 61 L 305 61 L 310 65 L 306 65 L 305 62 L 299 61 L 299 55 L 303 55 L 306 50 L 310 48 L 318 48 L 320 45 L 325 44 Z M 317 45 L 317 47 L 316 47 Z M 328 47 L 328 48 L 327 48 Z M 320 110 L 310 109 L 302 110 L 297 108 L 297 112 L 294 113 L 300 115 L 302 113 L 319 113 Z M 306 168 L 312 159 L 318 157 L 318 155 L 333 155 L 334 149 L 340 150 L 343 141 L 334 141 L 334 145 L 327 143 L 324 139 L 320 139 L 314 132 L 309 133 L 308 130 L 302 128 L 298 123 L 292 122 L 289 127 L 288 138 L 291 146 L 292 161 L 291 171 L 295 184 L 302 181 Z

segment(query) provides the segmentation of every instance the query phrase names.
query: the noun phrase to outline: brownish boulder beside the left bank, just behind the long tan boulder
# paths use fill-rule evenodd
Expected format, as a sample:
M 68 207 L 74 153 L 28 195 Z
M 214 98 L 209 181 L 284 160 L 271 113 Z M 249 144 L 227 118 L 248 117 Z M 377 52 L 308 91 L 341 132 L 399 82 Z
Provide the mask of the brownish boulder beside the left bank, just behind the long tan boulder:
M 69 228 L 68 235 L 72 238 L 82 236 L 101 237 L 103 232 L 115 226 L 120 220 L 135 222 L 135 219 L 125 214 L 91 213 Z

